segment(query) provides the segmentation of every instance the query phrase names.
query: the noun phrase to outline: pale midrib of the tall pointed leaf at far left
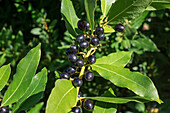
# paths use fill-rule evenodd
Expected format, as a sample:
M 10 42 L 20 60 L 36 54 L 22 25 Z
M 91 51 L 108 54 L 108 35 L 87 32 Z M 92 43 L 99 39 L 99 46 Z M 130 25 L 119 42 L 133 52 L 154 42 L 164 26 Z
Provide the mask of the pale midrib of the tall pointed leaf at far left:
M 35 55 L 36 55 L 36 52 L 34 52 L 34 55 L 33 55 L 33 57 L 31 58 L 31 61 L 29 62 L 28 67 L 30 66 L 30 64 L 31 64 L 31 62 L 32 62 L 32 60 L 33 60 L 33 58 L 34 58 Z M 28 67 L 26 68 L 26 71 L 24 72 L 24 76 L 22 77 L 21 82 L 18 84 L 17 88 L 16 88 L 15 91 L 11 94 L 11 96 L 2 104 L 2 106 L 3 106 L 5 103 L 7 103 L 8 100 L 9 100 L 9 99 L 15 94 L 15 92 L 18 90 L 19 86 L 21 85 L 21 83 L 22 83 L 22 81 L 23 81 L 23 79 L 24 79 L 24 77 L 25 77 L 25 75 L 26 75 L 25 73 L 28 71 Z

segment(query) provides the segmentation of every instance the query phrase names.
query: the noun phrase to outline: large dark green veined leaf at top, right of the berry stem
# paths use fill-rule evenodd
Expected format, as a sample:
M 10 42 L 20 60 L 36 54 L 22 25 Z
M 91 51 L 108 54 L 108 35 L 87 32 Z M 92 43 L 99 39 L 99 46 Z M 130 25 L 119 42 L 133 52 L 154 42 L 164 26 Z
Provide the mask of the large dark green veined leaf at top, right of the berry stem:
M 117 0 L 111 7 L 106 24 L 118 24 L 134 19 L 150 5 L 152 0 Z

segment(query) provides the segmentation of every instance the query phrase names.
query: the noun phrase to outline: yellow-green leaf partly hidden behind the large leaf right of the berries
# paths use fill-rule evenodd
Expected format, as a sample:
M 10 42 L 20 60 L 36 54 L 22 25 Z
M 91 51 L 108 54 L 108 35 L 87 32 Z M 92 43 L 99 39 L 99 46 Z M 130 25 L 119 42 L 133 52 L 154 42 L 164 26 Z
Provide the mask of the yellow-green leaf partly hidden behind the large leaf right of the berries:
M 95 64 L 109 64 L 124 67 L 131 59 L 132 52 L 121 51 L 98 58 Z

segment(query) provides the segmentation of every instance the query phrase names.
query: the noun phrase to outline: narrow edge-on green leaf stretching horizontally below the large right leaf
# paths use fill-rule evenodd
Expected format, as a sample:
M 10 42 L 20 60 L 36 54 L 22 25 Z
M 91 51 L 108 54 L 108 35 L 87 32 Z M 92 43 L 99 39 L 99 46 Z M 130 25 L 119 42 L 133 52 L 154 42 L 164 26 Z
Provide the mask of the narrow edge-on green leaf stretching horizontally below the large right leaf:
M 86 97 L 87 99 L 97 100 L 107 103 L 127 103 L 127 102 L 149 102 L 148 99 L 143 97 Z

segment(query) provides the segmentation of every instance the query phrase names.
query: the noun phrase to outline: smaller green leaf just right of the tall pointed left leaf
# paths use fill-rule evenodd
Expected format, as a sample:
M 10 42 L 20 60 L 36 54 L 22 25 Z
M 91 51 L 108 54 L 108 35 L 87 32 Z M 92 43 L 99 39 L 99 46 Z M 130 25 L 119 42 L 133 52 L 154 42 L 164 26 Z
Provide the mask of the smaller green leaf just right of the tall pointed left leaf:
M 15 112 L 18 108 L 22 109 L 21 104 L 30 96 L 43 92 L 45 90 L 46 83 L 47 83 L 47 69 L 43 68 L 41 72 L 34 76 L 24 96 L 21 99 L 19 99 L 19 101 L 14 106 L 13 112 Z

